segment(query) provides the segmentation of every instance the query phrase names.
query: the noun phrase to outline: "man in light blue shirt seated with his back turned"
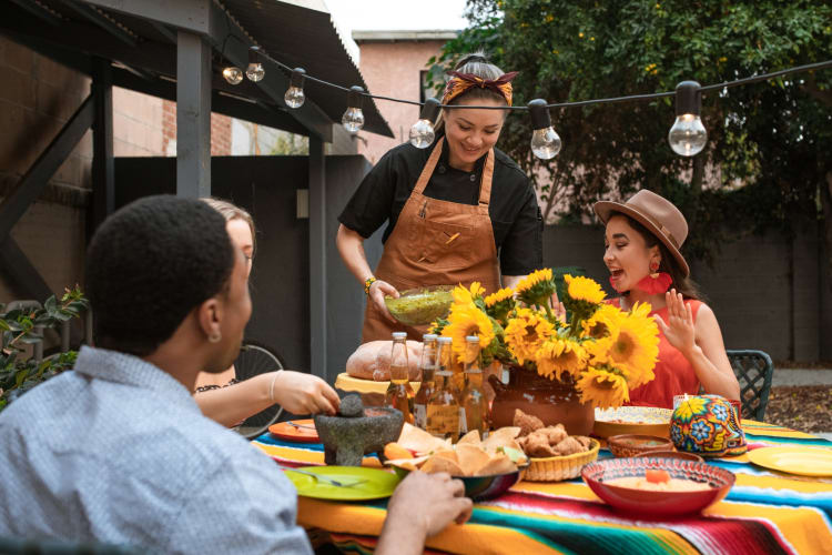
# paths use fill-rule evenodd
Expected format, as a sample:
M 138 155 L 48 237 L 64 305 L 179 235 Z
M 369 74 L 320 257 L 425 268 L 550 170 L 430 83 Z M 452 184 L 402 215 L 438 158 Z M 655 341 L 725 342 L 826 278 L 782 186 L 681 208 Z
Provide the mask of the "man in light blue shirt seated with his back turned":
M 200 371 L 234 362 L 252 311 L 225 220 L 195 200 L 132 203 L 95 233 L 87 290 L 97 347 L 0 414 L 0 534 L 310 553 L 292 484 L 191 395 Z M 461 493 L 447 475 L 412 473 L 378 552 L 420 553 L 426 536 L 467 518 Z

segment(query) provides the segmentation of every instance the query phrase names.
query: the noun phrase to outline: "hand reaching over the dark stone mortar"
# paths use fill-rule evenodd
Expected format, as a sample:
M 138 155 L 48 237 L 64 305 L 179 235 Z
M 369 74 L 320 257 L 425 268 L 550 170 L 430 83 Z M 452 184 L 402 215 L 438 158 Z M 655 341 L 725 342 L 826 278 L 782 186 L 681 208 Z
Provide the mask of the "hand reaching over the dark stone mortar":
M 275 403 L 294 414 L 328 414 L 338 412 L 338 394 L 329 384 L 312 374 L 284 370 L 272 383 Z

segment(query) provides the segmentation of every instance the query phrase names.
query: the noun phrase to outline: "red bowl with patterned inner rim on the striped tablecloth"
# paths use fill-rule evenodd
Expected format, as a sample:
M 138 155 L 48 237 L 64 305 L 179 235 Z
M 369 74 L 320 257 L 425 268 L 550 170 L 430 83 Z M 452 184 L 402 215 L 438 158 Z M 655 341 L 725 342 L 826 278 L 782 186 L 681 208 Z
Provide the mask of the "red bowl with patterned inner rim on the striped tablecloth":
M 706 482 L 711 487 L 701 492 L 648 492 L 605 484 L 607 480 L 643 476 L 648 470 L 663 470 L 670 477 Z M 613 507 L 651 516 L 698 513 L 728 495 L 735 481 L 733 473 L 708 463 L 649 455 L 598 461 L 585 466 L 581 476 L 596 495 Z

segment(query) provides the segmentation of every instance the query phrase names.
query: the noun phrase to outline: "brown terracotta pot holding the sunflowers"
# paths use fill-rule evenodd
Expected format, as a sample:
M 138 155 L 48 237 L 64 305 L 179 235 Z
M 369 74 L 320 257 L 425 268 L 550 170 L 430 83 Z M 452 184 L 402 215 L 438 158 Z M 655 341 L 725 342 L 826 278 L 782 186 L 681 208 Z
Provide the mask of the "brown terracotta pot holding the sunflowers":
M 515 410 L 534 414 L 544 424 L 564 424 L 569 435 L 589 435 L 595 424 L 595 410 L 580 402 L 571 379 L 551 381 L 521 367 L 509 369 L 508 384 L 488 376 L 496 396 L 491 404 L 494 428 L 514 425 Z

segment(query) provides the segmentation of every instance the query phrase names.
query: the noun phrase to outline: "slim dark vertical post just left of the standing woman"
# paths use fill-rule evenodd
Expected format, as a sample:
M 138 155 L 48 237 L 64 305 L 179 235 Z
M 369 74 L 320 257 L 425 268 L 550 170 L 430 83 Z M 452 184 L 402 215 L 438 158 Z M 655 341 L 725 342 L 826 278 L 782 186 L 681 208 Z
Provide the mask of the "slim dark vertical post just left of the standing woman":
M 324 142 L 310 137 L 310 363 L 326 380 L 326 168 Z

